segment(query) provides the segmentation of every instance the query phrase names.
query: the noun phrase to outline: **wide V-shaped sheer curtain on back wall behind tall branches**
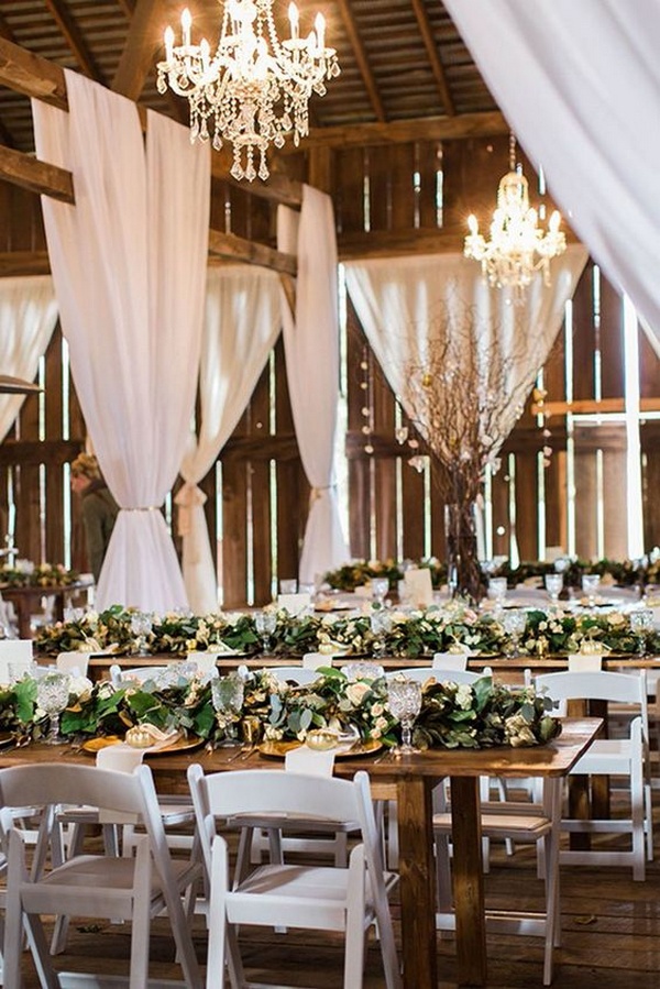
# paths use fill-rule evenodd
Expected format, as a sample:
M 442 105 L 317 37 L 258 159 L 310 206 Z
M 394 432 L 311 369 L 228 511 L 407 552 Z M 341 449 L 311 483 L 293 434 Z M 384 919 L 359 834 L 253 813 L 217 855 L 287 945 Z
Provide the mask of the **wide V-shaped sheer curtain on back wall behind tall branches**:
M 483 356 L 483 388 L 502 387 L 495 396 L 497 436 L 510 432 L 561 327 L 564 307 L 586 263 L 586 249 L 571 245 L 552 262 L 552 284 L 537 273 L 525 304 L 513 304 L 509 289 L 492 288 L 481 267 L 462 254 L 351 261 L 346 290 L 376 359 L 406 413 L 411 417 L 408 382 L 424 366 L 429 350 L 447 351 L 461 376 L 461 353 L 469 320 L 472 352 Z M 476 406 L 476 403 L 475 403 Z M 419 424 L 424 433 L 424 424 Z

